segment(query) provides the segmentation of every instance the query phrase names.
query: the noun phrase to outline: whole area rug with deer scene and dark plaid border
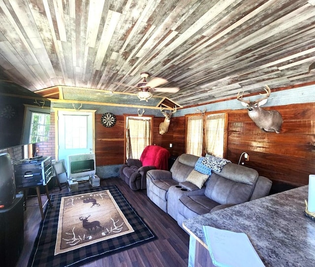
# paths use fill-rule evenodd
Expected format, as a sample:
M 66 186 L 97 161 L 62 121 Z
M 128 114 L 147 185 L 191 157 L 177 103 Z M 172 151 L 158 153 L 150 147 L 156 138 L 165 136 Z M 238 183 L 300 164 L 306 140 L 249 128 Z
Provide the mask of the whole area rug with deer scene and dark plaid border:
M 116 186 L 51 197 L 28 267 L 79 266 L 156 238 Z

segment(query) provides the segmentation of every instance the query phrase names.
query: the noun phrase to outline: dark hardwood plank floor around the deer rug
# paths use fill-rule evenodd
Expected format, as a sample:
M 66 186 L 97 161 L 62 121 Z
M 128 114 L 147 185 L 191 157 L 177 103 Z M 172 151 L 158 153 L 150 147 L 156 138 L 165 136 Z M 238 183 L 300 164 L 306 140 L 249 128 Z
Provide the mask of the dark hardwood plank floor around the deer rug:
M 94 262 L 82 265 L 85 267 L 184 267 L 188 266 L 189 234 L 181 229 L 177 222 L 155 205 L 146 194 L 146 190 L 132 191 L 120 178 L 103 179 L 101 186 L 116 185 L 126 200 L 147 223 L 158 239 L 146 244 L 119 252 Z M 84 185 L 79 185 L 83 187 Z M 90 185 L 86 183 L 86 187 Z M 68 192 L 58 187 L 50 194 Z M 43 203 L 47 197 L 42 195 Z M 17 267 L 26 267 L 36 238 L 41 216 L 37 197 L 28 197 L 27 209 L 24 211 L 24 247 Z M 36 205 L 37 204 L 37 205 Z

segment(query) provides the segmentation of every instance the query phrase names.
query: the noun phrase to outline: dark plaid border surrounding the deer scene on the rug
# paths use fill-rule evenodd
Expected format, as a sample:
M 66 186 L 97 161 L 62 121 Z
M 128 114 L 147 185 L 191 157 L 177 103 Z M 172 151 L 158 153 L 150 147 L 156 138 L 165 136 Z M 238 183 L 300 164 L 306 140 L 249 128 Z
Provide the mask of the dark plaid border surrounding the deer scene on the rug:
M 134 232 L 54 256 L 61 198 L 102 190 L 110 191 L 121 211 L 126 216 L 129 224 L 134 229 Z M 157 236 L 132 208 L 132 206 L 116 186 L 105 186 L 71 193 L 52 195 L 51 202 L 53 206 L 50 207 L 47 205 L 46 207 L 45 218 L 40 224 L 29 259 L 28 267 L 80 266 L 82 264 L 95 261 L 96 259 L 144 244 L 157 238 Z

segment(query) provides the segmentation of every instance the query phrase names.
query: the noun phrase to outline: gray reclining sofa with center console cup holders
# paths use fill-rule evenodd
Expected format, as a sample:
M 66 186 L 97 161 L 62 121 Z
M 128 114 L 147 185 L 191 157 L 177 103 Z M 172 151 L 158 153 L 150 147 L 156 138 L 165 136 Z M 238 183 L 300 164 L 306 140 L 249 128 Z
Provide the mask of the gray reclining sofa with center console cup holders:
M 186 181 L 199 157 L 183 154 L 167 170 L 147 172 L 147 195 L 182 227 L 185 219 L 265 197 L 272 182 L 252 168 L 226 163 L 199 188 Z

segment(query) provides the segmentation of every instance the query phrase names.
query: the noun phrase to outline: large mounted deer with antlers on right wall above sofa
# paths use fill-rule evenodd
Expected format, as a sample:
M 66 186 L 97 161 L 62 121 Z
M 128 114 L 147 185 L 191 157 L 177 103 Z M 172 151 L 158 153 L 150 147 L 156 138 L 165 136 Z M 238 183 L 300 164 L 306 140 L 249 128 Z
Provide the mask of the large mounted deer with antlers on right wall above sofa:
M 260 94 L 264 96 L 261 99 L 255 101 L 243 100 L 244 92 L 242 95 L 238 92 L 237 100 L 241 101 L 242 105 L 247 107 L 248 115 L 261 130 L 279 134 L 283 124 L 280 112 L 277 110 L 264 110 L 260 107 L 267 102 L 271 93 L 270 88 L 267 85 L 266 88 L 264 88 L 266 94 Z

